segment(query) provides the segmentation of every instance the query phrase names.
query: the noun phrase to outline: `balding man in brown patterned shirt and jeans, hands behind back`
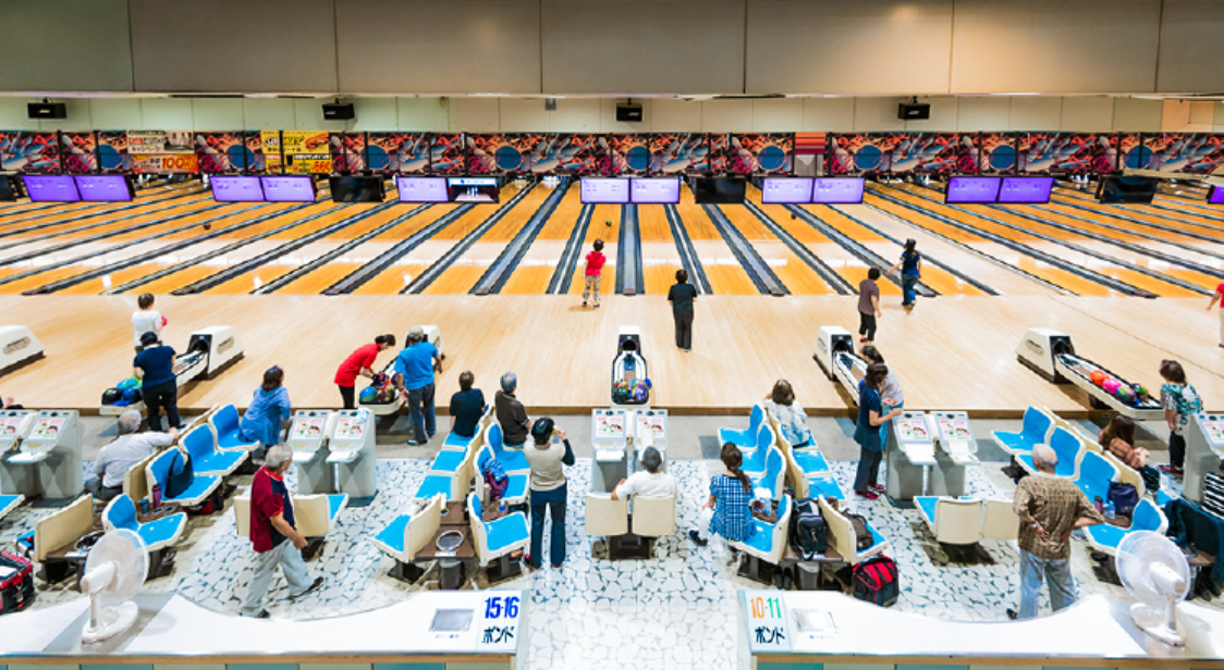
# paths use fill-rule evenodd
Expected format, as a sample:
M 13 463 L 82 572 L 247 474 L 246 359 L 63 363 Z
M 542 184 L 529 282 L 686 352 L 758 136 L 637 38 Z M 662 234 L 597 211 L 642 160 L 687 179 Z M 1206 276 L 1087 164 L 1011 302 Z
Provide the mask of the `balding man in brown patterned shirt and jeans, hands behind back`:
M 1038 445 L 1033 449 L 1038 474 L 1021 479 L 1016 487 L 1012 509 L 1020 517 L 1020 611 L 1009 609 L 1011 619 L 1037 616 L 1043 576 L 1050 581 L 1054 611 L 1075 604 L 1071 532 L 1105 522 L 1080 487 L 1054 474 L 1058 463 L 1049 445 Z

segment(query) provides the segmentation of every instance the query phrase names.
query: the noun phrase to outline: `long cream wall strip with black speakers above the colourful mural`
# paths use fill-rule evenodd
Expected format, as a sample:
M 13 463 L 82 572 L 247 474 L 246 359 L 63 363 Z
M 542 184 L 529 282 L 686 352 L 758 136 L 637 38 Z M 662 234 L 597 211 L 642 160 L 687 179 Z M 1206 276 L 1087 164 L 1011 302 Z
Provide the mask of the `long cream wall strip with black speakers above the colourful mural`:
M 1142 98 L 980 95 L 923 98 L 928 121 L 897 120 L 902 98 L 684 101 L 635 98 L 643 121 L 616 121 L 623 99 L 351 98 L 355 121 L 324 121 L 319 98 L 77 98 L 62 121 L 27 119 L 32 98 L 0 97 L 0 130 L 330 130 L 463 132 L 1224 132 L 1224 104 Z

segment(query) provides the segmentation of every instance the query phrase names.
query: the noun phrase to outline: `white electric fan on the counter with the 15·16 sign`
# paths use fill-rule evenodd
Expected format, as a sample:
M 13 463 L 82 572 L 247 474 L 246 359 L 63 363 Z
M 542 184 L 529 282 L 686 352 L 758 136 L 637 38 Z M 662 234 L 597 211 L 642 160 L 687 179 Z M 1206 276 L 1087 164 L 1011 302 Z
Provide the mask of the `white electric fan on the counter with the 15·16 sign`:
M 126 528 L 108 532 L 89 549 L 81 592 L 89 594 L 89 622 L 81 642 L 114 637 L 136 622 L 140 608 L 131 600 L 149 572 L 149 554 L 140 536 Z

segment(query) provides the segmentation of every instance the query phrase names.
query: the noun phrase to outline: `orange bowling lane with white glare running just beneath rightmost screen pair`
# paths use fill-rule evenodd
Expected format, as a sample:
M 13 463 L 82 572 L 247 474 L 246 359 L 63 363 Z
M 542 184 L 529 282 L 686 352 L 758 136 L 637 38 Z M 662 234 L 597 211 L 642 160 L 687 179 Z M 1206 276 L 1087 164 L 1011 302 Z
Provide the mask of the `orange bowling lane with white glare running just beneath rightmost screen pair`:
M 1124 281 L 1124 282 L 1126 282 L 1126 284 L 1129 284 L 1131 286 L 1135 286 L 1137 289 L 1144 289 L 1144 290 L 1151 291 L 1151 292 L 1153 292 L 1153 293 L 1155 293 L 1158 296 L 1184 297 L 1184 296 L 1193 295 L 1192 292 L 1190 292 L 1190 291 L 1187 291 L 1185 289 L 1174 286 L 1174 285 L 1169 284 L 1168 281 L 1163 281 L 1160 279 L 1152 278 L 1152 276 L 1137 273 L 1135 270 L 1124 268 L 1124 267 L 1119 265 L 1115 262 L 1103 260 L 1100 258 L 1094 258 L 1092 256 L 1077 252 L 1075 249 L 1070 249 L 1070 248 L 1064 247 L 1061 245 L 1056 245 L 1056 243 L 1042 240 L 1042 238 L 1039 238 L 1039 237 L 1037 237 L 1037 236 L 1027 232 L 1026 230 L 1016 230 L 1016 229 L 1012 229 L 1012 227 L 1009 227 L 1009 226 L 995 224 L 993 221 L 988 221 L 987 219 L 984 219 L 982 216 L 978 216 L 977 213 L 976 213 L 977 210 L 980 209 L 980 212 L 984 213 L 984 214 L 985 213 L 991 213 L 993 214 L 995 212 L 994 207 L 989 207 L 989 205 L 966 205 L 966 209 L 968 209 L 971 212 L 971 213 L 966 213 L 966 212 L 962 212 L 960 209 L 955 209 L 952 207 L 945 205 L 942 203 L 939 203 L 939 202 L 935 202 L 935 201 L 930 201 L 930 199 L 928 199 L 925 197 L 918 196 L 917 193 L 909 192 L 909 191 L 907 191 L 905 188 L 880 187 L 880 191 L 887 192 L 894 198 L 896 198 L 898 201 L 902 201 L 905 203 L 908 203 L 912 208 L 918 208 L 920 210 L 930 212 L 933 214 L 939 214 L 939 215 L 942 215 L 942 216 L 947 216 L 949 219 L 958 221 L 961 225 L 969 226 L 973 230 L 980 230 L 980 231 L 984 231 L 984 232 L 998 235 L 999 237 L 1002 237 L 1002 238 L 1006 238 L 1006 240 L 1011 240 L 1012 242 L 1018 242 L 1018 243 L 1024 245 L 1024 246 L 1027 246 L 1027 247 L 1029 247 L 1029 248 L 1032 248 L 1034 251 L 1039 251 L 1039 252 L 1049 254 L 1049 256 L 1051 256 L 1054 258 L 1058 258 L 1058 259 L 1060 259 L 1060 260 L 1062 260 L 1065 263 L 1069 263 L 1069 264 L 1072 264 L 1072 265 L 1076 265 L 1076 267 L 1080 267 L 1080 268 L 1083 268 L 1083 269 L 1093 270 L 1093 271 L 1095 271 L 1095 273 L 1098 273 L 1100 275 L 1109 276 L 1109 278 L 1116 279 L 1119 281 Z M 905 214 L 906 213 L 905 208 L 902 208 L 901 212 L 902 212 L 902 214 L 901 214 L 902 216 L 906 215 Z M 911 215 L 914 212 L 916 212 L 914 209 L 908 209 L 908 213 Z M 1031 226 L 1028 226 L 1028 227 L 1031 227 Z M 1076 291 L 1076 292 L 1078 292 L 1078 291 Z

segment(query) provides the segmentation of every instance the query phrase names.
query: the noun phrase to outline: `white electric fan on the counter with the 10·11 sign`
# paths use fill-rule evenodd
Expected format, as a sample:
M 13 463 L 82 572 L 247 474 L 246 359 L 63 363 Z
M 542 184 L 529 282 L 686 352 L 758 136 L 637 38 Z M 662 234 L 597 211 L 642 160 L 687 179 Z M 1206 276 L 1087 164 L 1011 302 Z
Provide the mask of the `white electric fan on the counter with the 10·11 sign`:
M 1181 647 L 1177 603 L 1190 592 L 1190 564 L 1169 538 L 1152 531 L 1127 533 L 1118 544 L 1118 577 L 1138 603 L 1131 621 L 1149 636 Z

